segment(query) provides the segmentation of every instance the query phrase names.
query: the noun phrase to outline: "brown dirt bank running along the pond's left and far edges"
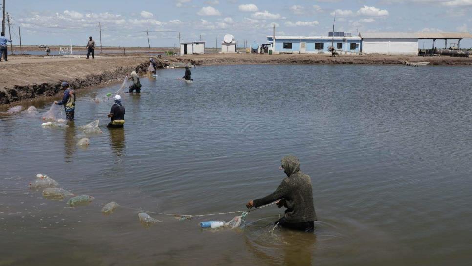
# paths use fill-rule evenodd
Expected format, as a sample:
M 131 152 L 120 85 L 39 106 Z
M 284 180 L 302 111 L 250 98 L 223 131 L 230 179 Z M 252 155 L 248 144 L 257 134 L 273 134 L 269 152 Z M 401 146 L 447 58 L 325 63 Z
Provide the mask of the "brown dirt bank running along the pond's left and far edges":
M 9 62 L 0 62 L 0 105 L 60 91 L 60 83 L 68 81 L 73 88 L 101 86 L 120 80 L 133 70 L 144 72 L 149 55 L 96 56 L 95 59 L 43 56 L 9 56 Z M 471 65 L 472 58 L 421 56 L 349 56 L 337 58 L 329 55 L 258 55 L 258 54 L 205 54 L 164 56 L 159 67 L 172 62 L 192 62 L 195 65 L 219 64 L 403 64 L 430 62 L 431 65 Z

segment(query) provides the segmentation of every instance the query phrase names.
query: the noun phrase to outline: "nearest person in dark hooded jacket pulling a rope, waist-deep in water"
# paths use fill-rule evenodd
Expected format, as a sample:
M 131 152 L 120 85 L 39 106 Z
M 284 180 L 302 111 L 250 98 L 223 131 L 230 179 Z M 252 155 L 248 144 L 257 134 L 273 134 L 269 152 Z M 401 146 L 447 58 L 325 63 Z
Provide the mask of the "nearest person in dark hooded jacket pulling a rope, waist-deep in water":
M 300 171 L 300 161 L 295 156 L 283 157 L 280 170 L 284 170 L 287 177 L 279 187 L 264 198 L 254 199 L 246 207 L 260 207 L 276 200 L 277 207 L 285 207 L 285 215 L 280 218 L 279 225 L 305 232 L 313 232 L 316 221 L 313 205 L 313 188 L 310 176 Z M 276 221 L 277 223 L 278 221 Z

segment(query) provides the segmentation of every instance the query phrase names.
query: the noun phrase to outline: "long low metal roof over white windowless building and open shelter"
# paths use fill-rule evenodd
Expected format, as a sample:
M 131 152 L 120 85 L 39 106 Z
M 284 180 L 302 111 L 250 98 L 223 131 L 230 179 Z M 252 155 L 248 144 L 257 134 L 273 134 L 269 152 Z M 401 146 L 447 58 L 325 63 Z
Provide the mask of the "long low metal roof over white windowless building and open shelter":
M 361 32 L 361 38 L 402 39 L 463 39 L 472 38 L 469 32 Z

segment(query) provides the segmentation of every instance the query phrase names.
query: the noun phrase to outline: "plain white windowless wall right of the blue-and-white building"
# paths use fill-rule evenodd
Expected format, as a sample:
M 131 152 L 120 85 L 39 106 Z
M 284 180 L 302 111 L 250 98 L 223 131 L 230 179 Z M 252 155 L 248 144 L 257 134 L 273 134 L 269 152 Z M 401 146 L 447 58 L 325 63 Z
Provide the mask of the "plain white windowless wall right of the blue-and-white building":
M 417 55 L 418 39 L 363 38 L 362 52 L 389 55 Z

